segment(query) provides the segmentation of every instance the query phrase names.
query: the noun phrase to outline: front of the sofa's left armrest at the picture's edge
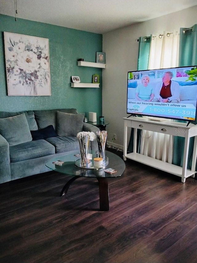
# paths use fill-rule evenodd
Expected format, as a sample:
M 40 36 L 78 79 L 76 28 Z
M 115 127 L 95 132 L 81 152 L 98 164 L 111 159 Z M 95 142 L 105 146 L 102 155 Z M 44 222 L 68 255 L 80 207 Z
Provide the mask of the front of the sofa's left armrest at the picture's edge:
M 6 139 L 0 135 L 0 184 L 11 180 L 10 150 Z

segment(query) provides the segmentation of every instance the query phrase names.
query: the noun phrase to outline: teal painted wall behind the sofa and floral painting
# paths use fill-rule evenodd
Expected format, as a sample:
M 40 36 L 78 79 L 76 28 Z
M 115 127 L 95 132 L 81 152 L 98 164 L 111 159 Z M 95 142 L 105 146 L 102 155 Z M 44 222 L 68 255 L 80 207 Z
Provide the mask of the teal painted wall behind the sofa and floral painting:
M 102 34 L 34 22 L 0 14 L 0 111 L 77 108 L 102 115 L 102 69 L 78 67 L 77 59 L 96 62 L 102 52 Z M 51 96 L 8 96 L 3 32 L 49 39 Z M 71 88 L 71 76 L 82 83 L 92 83 L 92 75 L 100 75 L 100 88 Z

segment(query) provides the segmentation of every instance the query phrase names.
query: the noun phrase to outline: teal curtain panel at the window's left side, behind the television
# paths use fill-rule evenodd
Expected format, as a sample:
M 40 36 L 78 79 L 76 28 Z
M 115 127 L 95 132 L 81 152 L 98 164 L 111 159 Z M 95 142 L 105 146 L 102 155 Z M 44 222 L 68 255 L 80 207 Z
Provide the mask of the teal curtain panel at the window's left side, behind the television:
M 150 51 L 151 36 L 139 37 L 139 46 L 138 46 L 138 69 L 137 70 L 146 70 L 148 69 L 148 58 Z M 133 132 L 134 129 L 131 129 L 131 136 L 128 144 L 127 151 L 133 152 Z M 137 149 L 139 152 L 140 148 L 140 138 L 141 130 L 137 130 Z

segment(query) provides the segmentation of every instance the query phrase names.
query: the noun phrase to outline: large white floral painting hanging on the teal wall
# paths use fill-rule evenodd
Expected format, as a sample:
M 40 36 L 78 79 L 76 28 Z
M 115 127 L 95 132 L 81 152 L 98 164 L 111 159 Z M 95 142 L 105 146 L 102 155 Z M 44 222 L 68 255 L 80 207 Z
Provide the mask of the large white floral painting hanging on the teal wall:
M 4 32 L 8 95 L 51 95 L 49 40 Z

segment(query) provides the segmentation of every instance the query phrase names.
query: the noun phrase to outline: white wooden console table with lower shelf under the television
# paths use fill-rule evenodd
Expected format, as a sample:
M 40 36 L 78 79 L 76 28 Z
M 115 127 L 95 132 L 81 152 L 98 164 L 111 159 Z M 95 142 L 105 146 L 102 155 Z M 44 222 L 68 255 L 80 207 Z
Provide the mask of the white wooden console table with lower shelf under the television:
M 181 177 L 182 183 L 185 183 L 187 177 L 195 177 L 195 166 L 197 157 L 197 125 L 175 121 L 155 121 L 149 120 L 145 117 L 129 117 L 124 119 L 124 160 L 131 159 L 142 164 L 147 164 L 151 167 L 160 169 L 165 172 Z M 134 128 L 134 149 L 132 153 L 127 153 L 127 128 Z M 173 136 L 180 136 L 185 138 L 184 155 L 183 155 L 183 168 L 174 164 L 166 163 L 149 156 L 137 153 L 137 129 L 156 131 Z M 194 150 L 192 156 L 191 170 L 187 169 L 188 149 L 190 137 L 194 137 Z

